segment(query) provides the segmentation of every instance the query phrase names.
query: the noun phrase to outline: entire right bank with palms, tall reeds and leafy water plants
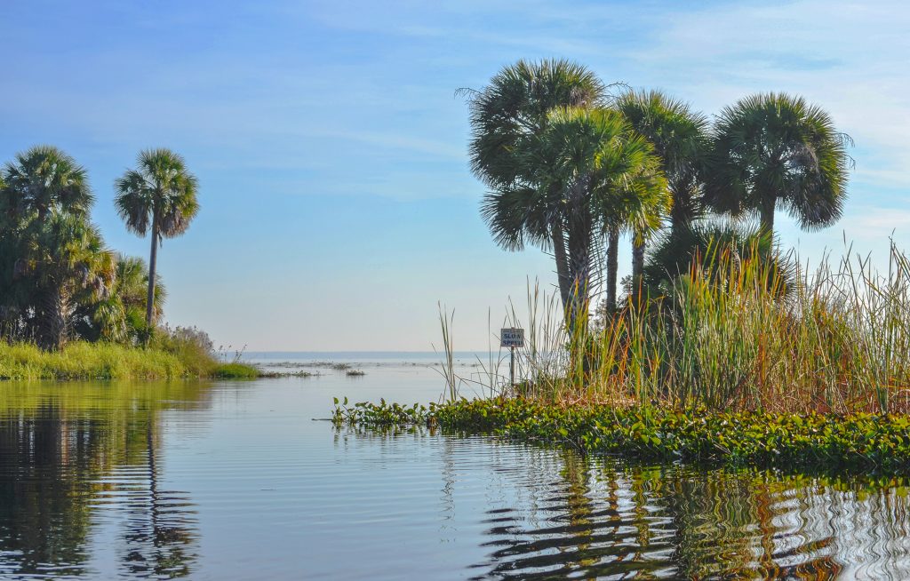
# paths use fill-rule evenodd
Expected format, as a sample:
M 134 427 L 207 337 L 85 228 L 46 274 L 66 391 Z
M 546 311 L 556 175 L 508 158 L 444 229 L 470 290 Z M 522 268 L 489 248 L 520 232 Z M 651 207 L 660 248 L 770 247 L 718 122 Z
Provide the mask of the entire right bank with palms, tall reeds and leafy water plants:
M 892 243 L 879 274 L 848 246 L 810 269 L 774 227 L 782 213 L 804 231 L 841 218 L 850 136 L 798 95 L 747 95 L 709 117 L 616 88 L 542 60 L 467 93 L 490 234 L 555 262 L 558 298 L 541 305 L 535 289 L 526 325 L 514 308 L 504 321 L 526 331 L 518 383 L 492 354 L 456 376 L 442 311 L 449 403 L 336 402 L 335 422 L 910 474 L 910 258 Z M 619 281 L 622 234 L 632 274 Z M 464 400 L 465 385 L 489 396 Z

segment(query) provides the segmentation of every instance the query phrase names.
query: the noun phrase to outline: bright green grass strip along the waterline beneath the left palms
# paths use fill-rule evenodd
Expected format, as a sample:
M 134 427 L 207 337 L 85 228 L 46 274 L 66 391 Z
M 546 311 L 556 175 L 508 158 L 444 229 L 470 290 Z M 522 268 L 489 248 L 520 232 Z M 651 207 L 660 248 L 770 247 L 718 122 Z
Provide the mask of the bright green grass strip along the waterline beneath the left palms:
M 58 352 L 31 344 L 0 343 L 0 379 L 176 379 L 251 377 L 255 367 L 220 365 L 192 350 L 146 349 L 111 343 L 73 342 Z

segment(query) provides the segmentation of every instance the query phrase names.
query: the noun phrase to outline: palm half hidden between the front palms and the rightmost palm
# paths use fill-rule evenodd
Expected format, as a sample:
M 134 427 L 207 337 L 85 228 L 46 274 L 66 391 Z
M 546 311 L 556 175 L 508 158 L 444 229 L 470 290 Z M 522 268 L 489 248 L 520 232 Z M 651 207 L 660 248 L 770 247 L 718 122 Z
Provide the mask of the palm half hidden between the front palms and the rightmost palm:
M 660 91 L 629 91 L 615 106 L 632 128 L 654 145 L 672 195 L 672 232 L 689 225 L 703 213 L 702 180 L 708 150 L 708 120 L 682 101 Z M 632 245 L 632 302 L 642 288 L 644 240 Z

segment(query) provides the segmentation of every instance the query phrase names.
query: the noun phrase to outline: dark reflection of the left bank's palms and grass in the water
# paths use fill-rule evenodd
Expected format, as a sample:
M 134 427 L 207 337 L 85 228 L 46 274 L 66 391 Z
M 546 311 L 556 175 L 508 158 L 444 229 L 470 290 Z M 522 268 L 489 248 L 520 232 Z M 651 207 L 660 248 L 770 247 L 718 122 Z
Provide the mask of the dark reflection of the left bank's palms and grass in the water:
M 0 574 L 91 574 L 86 546 L 96 526 L 116 528 L 120 573 L 190 573 L 193 505 L 157 484 L 157 432 L 171 402 L 205 405 L 204 393 L 188 384 L 5 385 Z

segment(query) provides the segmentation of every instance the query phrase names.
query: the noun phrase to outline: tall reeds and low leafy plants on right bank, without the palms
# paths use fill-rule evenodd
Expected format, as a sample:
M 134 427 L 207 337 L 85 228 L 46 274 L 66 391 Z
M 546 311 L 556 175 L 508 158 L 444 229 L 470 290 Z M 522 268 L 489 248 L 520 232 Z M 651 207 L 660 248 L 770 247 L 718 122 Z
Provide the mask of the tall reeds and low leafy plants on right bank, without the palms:
M 495 357 L 457 376 L 443 313 L 447 403 L 337 401 L 333 419 L 645 461 L 910 476 L 910 259 L 893 248 L 891 260 L 885 275 L 849 256 L 807 273 L 720 247 L 641 306 L 531 318 L 516 385 Z M 547 313 L 540 303 L 532 292 L 529 312 Z M 489 396 L 465 399 L 466 385 Z

